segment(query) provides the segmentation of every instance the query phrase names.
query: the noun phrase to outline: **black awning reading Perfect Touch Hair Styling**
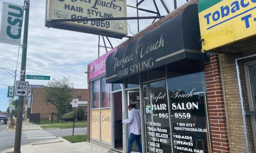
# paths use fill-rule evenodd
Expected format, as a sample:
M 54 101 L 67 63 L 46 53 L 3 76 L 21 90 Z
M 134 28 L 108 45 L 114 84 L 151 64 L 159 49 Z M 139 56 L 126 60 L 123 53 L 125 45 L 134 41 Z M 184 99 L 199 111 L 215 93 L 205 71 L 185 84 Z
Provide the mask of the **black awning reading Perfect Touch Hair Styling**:
M 203 60 L 199 39 L 198 7 L 192 4 L 177 17 L 111 53 L 106 60 L 106 81 L 122 82 L 134 74 L 185 58 Z

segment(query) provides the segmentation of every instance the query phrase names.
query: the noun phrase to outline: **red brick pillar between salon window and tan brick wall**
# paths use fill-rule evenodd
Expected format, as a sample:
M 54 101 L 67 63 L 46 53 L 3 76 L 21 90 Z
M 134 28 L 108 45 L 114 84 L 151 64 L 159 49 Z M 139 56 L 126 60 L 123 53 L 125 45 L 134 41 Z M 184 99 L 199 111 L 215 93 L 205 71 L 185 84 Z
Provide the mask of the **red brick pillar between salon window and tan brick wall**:
M 230 153 L 219 58 L 211 56 L 204 71 L 213 153 Z

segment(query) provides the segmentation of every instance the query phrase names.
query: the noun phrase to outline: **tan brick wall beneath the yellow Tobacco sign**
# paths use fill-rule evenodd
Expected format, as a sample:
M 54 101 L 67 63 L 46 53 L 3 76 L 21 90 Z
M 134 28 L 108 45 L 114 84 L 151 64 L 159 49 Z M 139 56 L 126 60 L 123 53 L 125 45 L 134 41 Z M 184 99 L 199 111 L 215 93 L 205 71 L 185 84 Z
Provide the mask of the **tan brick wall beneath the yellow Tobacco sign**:
M 224 82 L 225 104 L 227 107 L 230 146 L 232 153 L 247 153 L 239 84 L 236 72 L 236 58 L 245 57 L 252 54 L 256 54 L 256 48 L 250 48 L 244 51 L 224 54 L 221 55 L 220 58 L 221 71 L 223 74 Z M 240 64 L 240 77 L 242 77 L 241 83 L 244 84 L 244 71 L 242 63 Z M 244 100 L 246 101 L 247 94 L 244 93 L 246 92 L 246 85 L 242 85 L 242 91 Z

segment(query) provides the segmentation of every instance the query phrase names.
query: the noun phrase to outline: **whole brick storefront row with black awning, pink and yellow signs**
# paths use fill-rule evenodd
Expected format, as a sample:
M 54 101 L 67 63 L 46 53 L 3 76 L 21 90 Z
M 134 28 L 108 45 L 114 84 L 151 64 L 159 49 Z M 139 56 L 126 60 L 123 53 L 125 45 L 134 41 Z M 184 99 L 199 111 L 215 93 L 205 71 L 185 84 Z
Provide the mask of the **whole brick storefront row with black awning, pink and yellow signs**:
M 191 0 L 88 65 L 87 140 L 126 153 L 136 103 L 143 153 L 254 153 L 254 8 Z

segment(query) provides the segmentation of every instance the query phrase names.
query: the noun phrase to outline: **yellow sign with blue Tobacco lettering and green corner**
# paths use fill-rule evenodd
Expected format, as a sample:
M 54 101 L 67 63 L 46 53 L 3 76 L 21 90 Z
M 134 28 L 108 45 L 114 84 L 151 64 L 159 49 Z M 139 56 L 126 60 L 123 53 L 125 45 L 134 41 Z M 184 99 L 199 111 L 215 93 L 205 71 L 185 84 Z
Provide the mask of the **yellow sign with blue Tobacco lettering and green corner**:
M 256 0 L 200 0 L 198 17 L 206 51 L 256 35 Z

